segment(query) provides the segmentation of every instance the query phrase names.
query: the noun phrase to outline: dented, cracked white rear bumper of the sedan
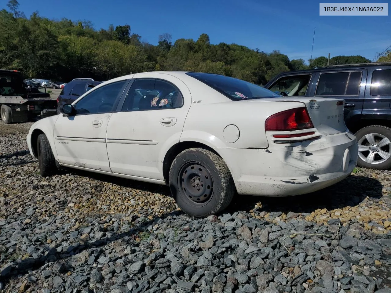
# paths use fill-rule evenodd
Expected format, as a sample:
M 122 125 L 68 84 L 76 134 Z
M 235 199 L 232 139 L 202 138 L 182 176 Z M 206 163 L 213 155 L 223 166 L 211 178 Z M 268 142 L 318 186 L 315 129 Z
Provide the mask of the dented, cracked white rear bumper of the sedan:
M 358 146 L 350 132 L 312 141 L 271 143 L 268 149 L 216 148 L 239 194 L 292 196 L 310 193 L 348 177 Z

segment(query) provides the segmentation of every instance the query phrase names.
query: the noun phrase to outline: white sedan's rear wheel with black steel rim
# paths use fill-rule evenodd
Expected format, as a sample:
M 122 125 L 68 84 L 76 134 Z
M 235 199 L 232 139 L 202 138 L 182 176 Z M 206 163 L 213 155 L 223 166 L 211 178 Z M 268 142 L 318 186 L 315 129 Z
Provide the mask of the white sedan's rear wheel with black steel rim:
M 236 191 L 226 163 L 203 148 L 189 148 L 176 156 L 169 186 L 182 211 L 195 218 L 223 211 Z

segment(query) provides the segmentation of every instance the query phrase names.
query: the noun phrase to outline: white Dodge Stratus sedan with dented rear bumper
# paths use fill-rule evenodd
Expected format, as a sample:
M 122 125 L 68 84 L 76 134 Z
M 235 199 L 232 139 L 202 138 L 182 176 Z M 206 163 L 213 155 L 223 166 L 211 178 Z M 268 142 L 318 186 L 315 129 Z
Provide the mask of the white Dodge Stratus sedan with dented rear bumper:
M 287 98 L 217 74 L 146 72 L 108 80 L 34 123 L 42 176 L 70 167 L 169 185 L 186 213 L 239 195 L 310 193 L 347 177 L 358 146 L 344 100 Z

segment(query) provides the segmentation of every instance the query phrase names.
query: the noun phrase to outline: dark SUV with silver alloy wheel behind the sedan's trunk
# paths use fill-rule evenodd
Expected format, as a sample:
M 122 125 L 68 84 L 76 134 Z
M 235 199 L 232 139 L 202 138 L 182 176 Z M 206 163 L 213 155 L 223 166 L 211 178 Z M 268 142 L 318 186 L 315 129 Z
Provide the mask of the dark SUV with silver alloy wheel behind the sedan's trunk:
M 334 65 L 277 75 L 265 88 L 286 97 L 345 100 L 346 126 L 357 136 L 361 167 L 391 167 L 391 63 Z M 332 155 L 332 154 L 330 154 Z

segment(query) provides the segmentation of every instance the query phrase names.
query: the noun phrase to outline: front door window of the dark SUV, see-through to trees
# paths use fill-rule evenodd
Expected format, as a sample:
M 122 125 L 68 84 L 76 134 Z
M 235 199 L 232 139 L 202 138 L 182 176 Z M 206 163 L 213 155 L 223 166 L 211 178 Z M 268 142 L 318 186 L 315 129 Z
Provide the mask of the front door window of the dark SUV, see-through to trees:
M 305 96 L 310 79 L 310 74 L 284 76 L 269 89 L 278 95 L 285 92 L 288 96 Z

